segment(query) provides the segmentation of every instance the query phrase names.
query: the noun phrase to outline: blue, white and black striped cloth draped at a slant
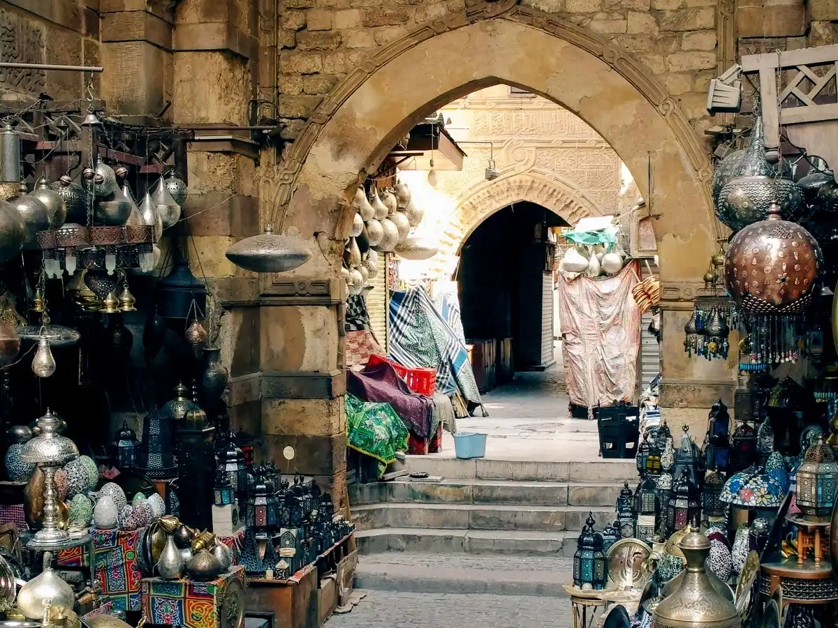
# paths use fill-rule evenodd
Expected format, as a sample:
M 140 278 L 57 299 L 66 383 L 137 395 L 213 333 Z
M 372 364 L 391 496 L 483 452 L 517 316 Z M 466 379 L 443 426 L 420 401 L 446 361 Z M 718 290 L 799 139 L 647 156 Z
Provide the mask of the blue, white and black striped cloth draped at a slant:
M 465 343 L 422 288 L 391 292 L 387 339 L 397 363 L 437 369 L 437 392 L 459 392 L 469 404 L 482 403 Z

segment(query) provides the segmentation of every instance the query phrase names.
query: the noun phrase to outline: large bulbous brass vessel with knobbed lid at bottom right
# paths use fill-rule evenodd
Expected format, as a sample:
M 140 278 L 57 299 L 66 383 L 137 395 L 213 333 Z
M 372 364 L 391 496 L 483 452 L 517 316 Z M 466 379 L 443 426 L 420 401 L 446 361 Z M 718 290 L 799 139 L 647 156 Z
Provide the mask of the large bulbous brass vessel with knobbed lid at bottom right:
M 710 540 L 699 531 L 697 520 L 678 547 L 684 553 L 686 569 L 677 589 L 654 608 L 652 628 L 739 628 L 742 620 L 736 606 L 716 592 L 707 575 Z

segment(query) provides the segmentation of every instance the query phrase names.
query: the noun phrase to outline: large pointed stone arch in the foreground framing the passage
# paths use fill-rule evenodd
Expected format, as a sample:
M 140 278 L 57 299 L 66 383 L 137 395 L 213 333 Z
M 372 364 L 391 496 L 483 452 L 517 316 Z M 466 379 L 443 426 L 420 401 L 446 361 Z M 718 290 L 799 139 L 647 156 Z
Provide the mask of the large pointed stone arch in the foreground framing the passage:
M 556 101 L 603 136 L 649 198 L 665 260 L 662 280 L 698 281 L 716 239 L 711 167 L 675 101 L 623 49 L 583 28 L 510 0 L 468 4 L 360 64 L 318 107 L 279 172 L 279 203 L 287 203 L 283 228 L 295 224 L 303 234 L 325 231 L 340 239 L 349 211 L 339 212 L 339 205 L 348 205 L 363 173 L 415 121 L 503 82 Z M 339 245 L 330 250 L 336 260 Z M 335 276 L 337 270 L 322 255 L 297 274 Z

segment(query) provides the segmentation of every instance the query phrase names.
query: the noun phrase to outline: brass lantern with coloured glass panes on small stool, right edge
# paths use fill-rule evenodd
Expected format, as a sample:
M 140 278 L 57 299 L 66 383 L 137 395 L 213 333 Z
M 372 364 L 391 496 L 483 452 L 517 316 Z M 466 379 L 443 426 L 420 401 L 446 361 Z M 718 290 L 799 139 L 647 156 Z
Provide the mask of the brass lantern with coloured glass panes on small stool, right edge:
M 804 517 L 827 521 L 835 506 L 838 463 L 823 436 L 806 451 L 797 470 L 797 506 Z

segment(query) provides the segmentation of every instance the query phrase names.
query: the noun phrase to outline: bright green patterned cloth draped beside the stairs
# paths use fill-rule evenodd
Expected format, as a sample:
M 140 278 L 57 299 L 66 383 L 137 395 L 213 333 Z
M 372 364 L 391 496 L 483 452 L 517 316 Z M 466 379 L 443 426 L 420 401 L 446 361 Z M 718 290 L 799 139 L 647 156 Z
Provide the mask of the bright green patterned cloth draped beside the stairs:
M 407 428 L 390 404 L 362 401 L 347 393 L 346 442 L 386 466 L 407 448 Z

